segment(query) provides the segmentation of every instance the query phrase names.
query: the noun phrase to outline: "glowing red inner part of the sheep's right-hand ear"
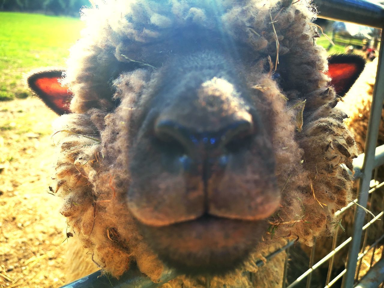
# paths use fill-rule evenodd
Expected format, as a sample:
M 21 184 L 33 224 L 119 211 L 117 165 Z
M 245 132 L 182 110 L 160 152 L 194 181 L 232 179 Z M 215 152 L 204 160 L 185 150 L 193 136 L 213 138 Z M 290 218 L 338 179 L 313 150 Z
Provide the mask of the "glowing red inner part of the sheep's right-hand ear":
M 329 64 L 326 74 L 332 78 L 331 85 L 334 86 L 336 93 L 340 93 L 348 87 L 356 73 L 358 67 L 354 63 L 332 63 Z

